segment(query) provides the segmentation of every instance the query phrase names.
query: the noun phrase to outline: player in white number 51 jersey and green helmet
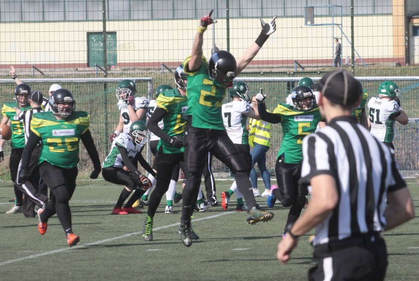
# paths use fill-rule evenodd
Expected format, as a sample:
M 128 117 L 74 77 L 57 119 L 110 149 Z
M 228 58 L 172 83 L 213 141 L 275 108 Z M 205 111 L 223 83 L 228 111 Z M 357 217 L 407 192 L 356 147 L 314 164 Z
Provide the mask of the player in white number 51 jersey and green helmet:
M 394 149 L 394 121 L 402 125 L 409 123 L 409 117 L 400 106 L 398 93 L 397 84 L 385 81 L 378 87 L 378 98 L 372 97 L 368 102 L 368 127 L 371 134 L 392 149 Z

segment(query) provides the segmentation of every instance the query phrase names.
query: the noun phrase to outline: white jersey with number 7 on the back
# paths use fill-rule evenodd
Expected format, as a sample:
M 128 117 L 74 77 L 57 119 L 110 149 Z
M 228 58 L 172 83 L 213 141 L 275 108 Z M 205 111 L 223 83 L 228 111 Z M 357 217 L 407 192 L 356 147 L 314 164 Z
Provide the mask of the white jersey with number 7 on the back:
M 249 138 L 246 130 L 247 116 L 242 115 L 251 110 L 251 106 L 245 101 L 232 101 L 223 104 L 221 113 L 227 135 L 233 143 L 248 144 Z

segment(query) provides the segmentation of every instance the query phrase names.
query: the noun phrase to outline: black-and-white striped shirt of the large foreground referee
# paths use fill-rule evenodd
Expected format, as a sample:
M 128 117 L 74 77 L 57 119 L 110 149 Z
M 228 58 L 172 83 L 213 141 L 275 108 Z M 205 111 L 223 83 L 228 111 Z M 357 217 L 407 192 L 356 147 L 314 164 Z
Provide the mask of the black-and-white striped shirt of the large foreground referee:
M 384 231 L 387 192 L 406 186 L 394 151 L 359 125 L 354 116 L 340 116 L 304 138 L 301 184 L 329 174 L 336 181 L 339 201 L 316 228 L 314 245 L 359 233 Z

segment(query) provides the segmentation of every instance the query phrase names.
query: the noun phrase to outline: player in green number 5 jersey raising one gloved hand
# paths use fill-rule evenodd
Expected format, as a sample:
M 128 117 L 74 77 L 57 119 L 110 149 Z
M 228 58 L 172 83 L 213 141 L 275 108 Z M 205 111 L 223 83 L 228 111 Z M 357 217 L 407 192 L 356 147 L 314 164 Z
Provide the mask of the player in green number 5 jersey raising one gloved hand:
M 304 208 L 307 188 L 299 186 L 302 163 L 302 139 L 314 133 L 317 124 L 323 119 L 316 97 L 307 86 L 297 86 L 291 93 L 293 105 L 279 103 L 276 109 L 269 113 L 266 110 L 262 88 L 256 95 L 259 115 L 262 120 L 272 124 L 281 123 L 283 138 L 275 164 L 276 181 L 279 188 L 271 187 L 269 205 L 273 206 L 277 198 L 284 207 L 291 207 L 287 223 L 282 234 L 285 237 L 289 227 L 297 221 Z

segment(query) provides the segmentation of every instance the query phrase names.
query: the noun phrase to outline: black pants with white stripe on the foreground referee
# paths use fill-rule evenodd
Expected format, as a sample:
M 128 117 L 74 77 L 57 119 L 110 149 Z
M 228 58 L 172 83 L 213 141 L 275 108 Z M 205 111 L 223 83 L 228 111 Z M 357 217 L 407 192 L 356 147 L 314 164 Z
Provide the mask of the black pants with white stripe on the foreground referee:
M 363 234 L 314 247 L 317 265 L 308 280 L 381 281 L 386 277 L 387 248 L 378 234 Z

